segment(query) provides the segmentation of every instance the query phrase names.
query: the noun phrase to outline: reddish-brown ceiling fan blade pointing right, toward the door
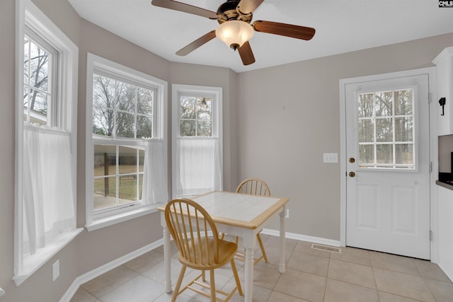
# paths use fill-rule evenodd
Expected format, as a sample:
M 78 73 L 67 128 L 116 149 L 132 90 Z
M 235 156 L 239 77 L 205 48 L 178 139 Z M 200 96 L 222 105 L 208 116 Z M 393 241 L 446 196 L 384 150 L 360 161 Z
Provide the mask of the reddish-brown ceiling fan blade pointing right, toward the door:
M 253 28 L 261 33 L 285 35 L 286 37 L 295 37 L 302 40 L 310 40 L 316 32 L 314 28 L 271 21 L 255 21 Z

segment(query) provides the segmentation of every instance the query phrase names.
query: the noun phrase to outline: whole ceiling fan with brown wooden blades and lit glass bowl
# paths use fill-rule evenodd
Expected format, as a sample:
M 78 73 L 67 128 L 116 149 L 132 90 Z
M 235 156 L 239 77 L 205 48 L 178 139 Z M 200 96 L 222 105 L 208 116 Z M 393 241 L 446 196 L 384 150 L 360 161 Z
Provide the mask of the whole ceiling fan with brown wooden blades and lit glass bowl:
M 185 56 L 193 52 L 206 42 L 218 37 L 233 50 L 239 51 L 242 63 L 249 65 L 255 63 L 255 57 L 248 42 L 253 36 L 253 32 L 272 33 L 274 35 L 284 35 L 296 39 L 310 40 L 315 33 L 314 28 L 307 28 L 299 25 L 277 23 L 271 21 L 255 21 L 251 23 L 253 11 L 263 3 L 264 0 L 226 0 L 217 8 L 217 12 L 209 11 L 190 4 L 173 0 L 152 0 L 151 4 L 163 8 L 170 8 L 184 13 L 193 13 L 197 16 L 210 18 L 219 22 L 216 30 L 202 35 L 189 45 L 176 52 L 180 56 Z

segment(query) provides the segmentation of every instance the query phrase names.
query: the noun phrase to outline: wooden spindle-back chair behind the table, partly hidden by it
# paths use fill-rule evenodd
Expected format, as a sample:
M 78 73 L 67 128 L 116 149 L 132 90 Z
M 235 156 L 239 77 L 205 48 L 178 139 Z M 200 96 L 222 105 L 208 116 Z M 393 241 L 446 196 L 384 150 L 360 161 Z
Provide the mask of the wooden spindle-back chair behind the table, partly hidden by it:
M 236 188 L 236 193 L 243 193 L 243 194 L 251 194 L 251 195 L 259 195 L 259 196 L 270 196 L 270 190 L 268 185 L 259 178 L 247 178 L 243 180 L 239 186 Z M 224 238 L 224 234 L 222 233 L 220 238 Z M 253 264 L 256 265 L 260 262 L 261 259 L 264 259 L 266 263 L 268 263 L 268 255 L 266 255 L 266 251 L 264 249 L 263 240 L 261 240 L 260 233 L 256 234 L 256 238 L 258 239 L 258 244 L 260 245 L 261 256 L 253 259 Z M 237 244 L 239 241 L 238 236 L 235 238 L 235 243 Z M 244 260 L 245 255 L 242 252 L 237 252 L 236 259 Z

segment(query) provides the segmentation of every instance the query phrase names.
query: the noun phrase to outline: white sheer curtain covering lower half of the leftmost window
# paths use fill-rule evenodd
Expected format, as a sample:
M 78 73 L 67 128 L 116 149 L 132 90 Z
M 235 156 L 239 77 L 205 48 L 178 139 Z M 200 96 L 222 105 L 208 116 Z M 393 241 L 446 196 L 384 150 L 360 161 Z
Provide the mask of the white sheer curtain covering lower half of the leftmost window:
M 23 127 L 23 255 L 33 255 L 60 233 L 76 228 L 71 134 Z

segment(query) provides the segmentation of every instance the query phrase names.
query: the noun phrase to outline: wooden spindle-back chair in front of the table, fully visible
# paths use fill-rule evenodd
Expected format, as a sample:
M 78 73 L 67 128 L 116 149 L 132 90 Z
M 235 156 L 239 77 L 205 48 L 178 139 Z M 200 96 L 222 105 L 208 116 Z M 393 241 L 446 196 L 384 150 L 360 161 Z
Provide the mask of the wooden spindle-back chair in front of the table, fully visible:
M 234 263 L 238 246 L 219 238 L 217 227 L 210 214 L 190 199 L 173 199 L 165 207 L 165 221 L 168 230 L 178 248 L 178 260 L 183 265 L 180 270 L 178 281 L 173 292 L 172 302 L 186 289 L 195 291 L 197 294 L 210 297 L 214 301 L 228 301 L 236 289 L 242 296 L 241 283 Z M 214 269 L 231 263 L 236 286 L 229 293 L 216 289 L 214 281 Z M 200 270 L 201 273 L 188 285 L 180 289 L 184 278 L 185 269 Z M 206 283 L 205 271 L 210 271 L 210 284 Z M 202 279 L 201 281 L 200 278 Z M 209 294 L 203 289 L 210 289 Z M 225 296 L 222 300 L 217 294 Z

